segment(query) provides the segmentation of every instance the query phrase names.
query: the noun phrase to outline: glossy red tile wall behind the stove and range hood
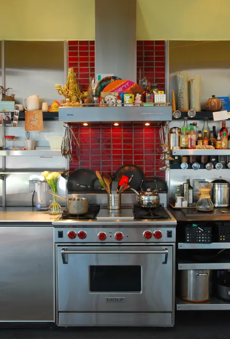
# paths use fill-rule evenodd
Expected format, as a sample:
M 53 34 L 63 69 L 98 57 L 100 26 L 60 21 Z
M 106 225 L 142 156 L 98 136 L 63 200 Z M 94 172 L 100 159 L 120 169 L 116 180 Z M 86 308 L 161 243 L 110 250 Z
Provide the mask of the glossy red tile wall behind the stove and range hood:
M 69 41 L 69 67 L 73 67 L 77 82 L 80 79 L 84 91 L 88 89 L 89 78 L 95 74 L 94 41 Z M 165 42 L 137 41 L 137 79 L 146 76 L 165 90 Z M 138 82 L 138 81 L 137 81 Z M 144 170 L 147 178 L 165 178 L 160 172 L 159 125 L 143 126 L 130 123 L 115 127 L 113 124 L 72 126 L 80 149 L 74 146 L 70 171 L 78 168 L 99 170 L 114 175 L 122 165 L 134 164 Z

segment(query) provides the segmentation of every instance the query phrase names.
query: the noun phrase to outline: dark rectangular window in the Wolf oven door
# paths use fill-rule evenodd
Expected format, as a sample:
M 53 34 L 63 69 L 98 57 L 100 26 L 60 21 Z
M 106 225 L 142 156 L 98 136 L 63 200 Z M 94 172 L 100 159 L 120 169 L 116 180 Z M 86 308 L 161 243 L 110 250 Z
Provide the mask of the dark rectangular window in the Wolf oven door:
M 89 266 L 91 293 L 141 293 L 141 266 Z

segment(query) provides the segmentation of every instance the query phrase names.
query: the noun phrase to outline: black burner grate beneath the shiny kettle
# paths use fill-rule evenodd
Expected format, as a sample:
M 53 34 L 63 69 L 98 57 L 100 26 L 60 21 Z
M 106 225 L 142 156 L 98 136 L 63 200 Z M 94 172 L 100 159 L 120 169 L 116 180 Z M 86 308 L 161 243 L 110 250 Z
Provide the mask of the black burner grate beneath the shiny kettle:
M 140 207 L 134 205 L 133 207 L 134 219 L 169 219 L 169 216 L 164 207 Z

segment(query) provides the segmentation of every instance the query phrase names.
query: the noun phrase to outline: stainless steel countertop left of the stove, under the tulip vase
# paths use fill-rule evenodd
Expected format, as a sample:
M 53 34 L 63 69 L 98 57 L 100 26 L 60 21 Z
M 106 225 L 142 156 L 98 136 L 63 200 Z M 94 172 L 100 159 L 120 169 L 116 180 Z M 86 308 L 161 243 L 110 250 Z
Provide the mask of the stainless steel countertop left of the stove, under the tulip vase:
M 52 225 L 57 216 L 49 215 L 48 211 L 37 211 L 35 207 L 0 207 L 0 224 L 6 223 L 36 223 Z

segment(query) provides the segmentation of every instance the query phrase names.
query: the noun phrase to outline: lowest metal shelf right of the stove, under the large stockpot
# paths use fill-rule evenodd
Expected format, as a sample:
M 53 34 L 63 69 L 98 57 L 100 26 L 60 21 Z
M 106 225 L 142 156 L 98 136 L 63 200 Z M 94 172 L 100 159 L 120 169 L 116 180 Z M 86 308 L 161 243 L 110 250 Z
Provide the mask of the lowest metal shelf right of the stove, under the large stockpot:
M 213 297 L 205 303 L 191 303 L 182 299 L 176 299 L 176 308 L 179 311 L 201 311 L 201 310 L 228 310 L 230 302 Z

